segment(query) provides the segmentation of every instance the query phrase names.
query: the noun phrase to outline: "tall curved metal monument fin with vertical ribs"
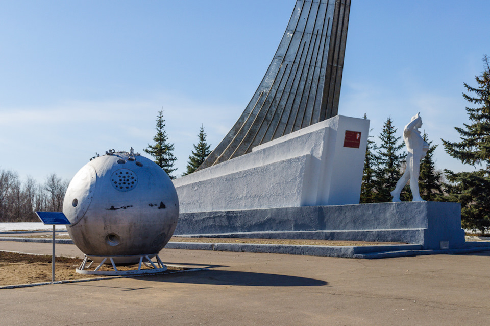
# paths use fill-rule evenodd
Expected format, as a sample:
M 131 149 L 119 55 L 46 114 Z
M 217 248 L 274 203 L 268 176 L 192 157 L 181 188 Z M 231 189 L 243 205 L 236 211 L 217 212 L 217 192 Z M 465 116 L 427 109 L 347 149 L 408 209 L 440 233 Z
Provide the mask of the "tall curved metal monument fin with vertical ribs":
M 297 0 L 252 100 L 198 170 L 334 117 L 351 0 Z

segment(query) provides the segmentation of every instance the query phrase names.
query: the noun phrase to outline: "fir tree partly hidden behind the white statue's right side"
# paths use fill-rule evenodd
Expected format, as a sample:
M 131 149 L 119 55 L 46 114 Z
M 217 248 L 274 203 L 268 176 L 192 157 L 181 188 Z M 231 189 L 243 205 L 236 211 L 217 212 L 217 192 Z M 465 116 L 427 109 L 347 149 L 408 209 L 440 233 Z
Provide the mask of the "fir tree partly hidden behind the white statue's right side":
M 427 201 L 436 201 L 443 193 L 442 185 L 440 182 L 442 173 L 435 170 L 434 160 L 432 159 L 432 157 L 434 156 L 434 150 L 437 148 L 437 145 L 432 146 L 432 141 L 429 142 L 428 135 L 425 132 L 423 138 L 424 141 L 429 144 L 429 150 L 427 151 L 425 157 L 420 161 L 420 196 L 422 197 L 422 199 Z

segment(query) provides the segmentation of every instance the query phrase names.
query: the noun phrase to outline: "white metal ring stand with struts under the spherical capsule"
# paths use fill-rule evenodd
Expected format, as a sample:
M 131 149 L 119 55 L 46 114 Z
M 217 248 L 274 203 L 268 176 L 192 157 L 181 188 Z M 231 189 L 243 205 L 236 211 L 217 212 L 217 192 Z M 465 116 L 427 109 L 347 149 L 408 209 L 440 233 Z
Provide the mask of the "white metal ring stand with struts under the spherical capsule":
M 157 261 L 153 262 L 150 257 L 154 256 L 156 257 Z M 92 256 L 93 257 L 93 256 Z M 116 267 L 116 264 L 114 262 L 114 259 L 117 258 L 124 258 L 125 256 L 97 256 L 102 259 L 102 261 L 95 267 L 95 269 L 90 269 L 95 262 L 93 259 L 85 255 L 85 258 L 82 261 L 82 264 L 80 265 L 79 268 L 77 268 L 75 271 L 79 274 L 90 274 L 90 275 L 138 275 L 138 274 L 154 274 L 154 273 L 161 273 L 167 270 L 167 267 L 163 265 L 162 260 L 160 257 L 158 257 L 158 254 L 142 254 L 139 255 L 139 264 L 138 264 L 138 269 L 134 270 L 118 270 Z M 91 260 L 91 262 L 87 265 L 88 261 Z M 110 271 L 105 271 L 105 270 L 100 270 L 102 265 L 104 265 L 107 260 L 110 261 L 112 268 L 114 270 Z M 148 268 L 146 269 L 141 269 L 141 266 L 144 265 Z

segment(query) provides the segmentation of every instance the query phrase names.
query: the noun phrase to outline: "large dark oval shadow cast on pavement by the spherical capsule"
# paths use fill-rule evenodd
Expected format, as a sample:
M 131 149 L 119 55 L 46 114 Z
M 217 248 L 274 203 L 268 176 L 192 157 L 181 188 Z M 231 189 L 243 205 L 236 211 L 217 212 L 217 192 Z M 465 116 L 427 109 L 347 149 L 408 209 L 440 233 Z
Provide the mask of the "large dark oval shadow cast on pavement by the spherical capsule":
M 236 272 L 208 270 L 199 273 L 183 273 L 173 275 L 138 276 L 139 280 L 153 282 L 174 282 L 188 284 L 236 285 L 236 286 L 325 286 L 328 282 L 314 278 L 264 274 L 252 272 Z

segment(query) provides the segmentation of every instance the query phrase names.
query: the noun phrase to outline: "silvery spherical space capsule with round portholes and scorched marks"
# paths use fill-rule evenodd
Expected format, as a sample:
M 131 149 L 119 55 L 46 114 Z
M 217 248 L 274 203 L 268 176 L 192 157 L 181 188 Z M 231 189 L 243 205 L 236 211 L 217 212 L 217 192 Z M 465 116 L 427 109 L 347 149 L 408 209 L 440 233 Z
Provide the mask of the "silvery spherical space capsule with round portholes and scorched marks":
M 152 160 L 109 151 L 71 180 L 63 202 L 68 233 L 90 259 L 116 265 L 154 257 L 170 240 L 179 200 L 168 175 Z

